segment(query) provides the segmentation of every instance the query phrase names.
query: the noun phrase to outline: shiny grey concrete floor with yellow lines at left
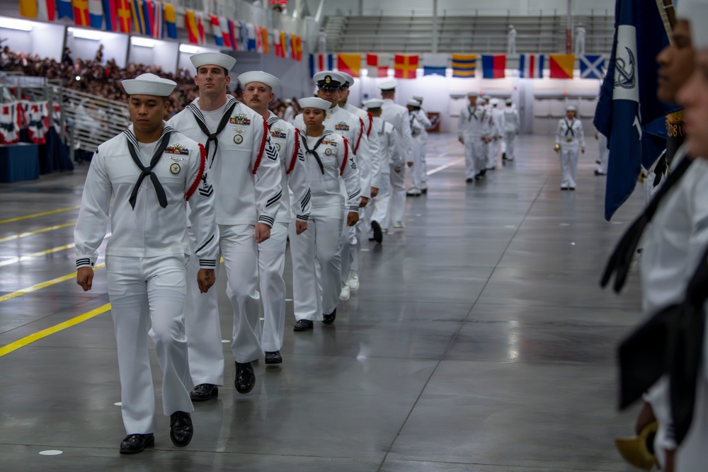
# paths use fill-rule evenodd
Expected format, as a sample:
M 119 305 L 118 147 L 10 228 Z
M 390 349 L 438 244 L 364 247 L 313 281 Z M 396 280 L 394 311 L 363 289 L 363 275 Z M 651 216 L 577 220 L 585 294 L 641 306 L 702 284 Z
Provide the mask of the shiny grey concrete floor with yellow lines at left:
M 642 202 L 637 192 L 615 221 L 603 220 L 605 178 L 593 175 L 597 146 L 588 144 L 578 190 L 561 192 L 550 138 L 521 137 L 517 161 L 477 185 L 464 182 L 454 137 L 431 135 L 428 195 L 408 199 L 404 230 L 363 245 L 361 289 L 335 325 L 293 333 L 289 317 L 285 362 L 259 362 L 247 395 L 233 388 L 224 344 L 227 386 L 195 405 L 186 449 L 173 447 L 162 418 L 154 449 L 118 454 L 125 432 L 109 313 L 1 356 L 1 467 L 633 470 L 612 438 L 632 434 L 636 413 L 615 408 L 615 346 L 639 320 L 637 277 L 622 296 L 598 279 Z M 0 185 L 0 346 L 108 303 L 105 270 L 81 292 L 65 246 L 85 175 Z M 8 221 L 40 212 L 50 213 Z M 64 226 L 11 237 L 52 225 Z M 153 372 L 159 395 L 156 362 Z

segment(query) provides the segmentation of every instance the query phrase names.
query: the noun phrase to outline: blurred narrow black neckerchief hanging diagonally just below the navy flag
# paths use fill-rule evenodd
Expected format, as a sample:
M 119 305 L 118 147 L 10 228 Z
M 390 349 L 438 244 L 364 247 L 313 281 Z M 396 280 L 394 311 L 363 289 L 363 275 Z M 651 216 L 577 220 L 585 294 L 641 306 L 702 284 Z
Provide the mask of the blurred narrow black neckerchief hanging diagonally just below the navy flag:
M 644 212 L 642 212 L 637 219 L 634 220 L 632 226 L 629 226 L 627 231 L 624 232 L 622 238 L 619 239 L 619 243 L 615 246 L 615 251 L 612 251 L 610 259 L 607 260 L 607 265 L 605 265 L 605 272 L 603 272 L 603 278 L 600 279 L 600 286 L 605 287 L 612 274 L 615 274 L 615 292 L 619 293 L 624 287 L 624 282 L 627 281 L 627 272 L 629 272 L 629 265 L 632 263 L 632 256 L 636 252 L 636 246 L 639 244 L 639 239 L 646 229 L 646 225 L 654 217 L 656 210 L 666 197 L 668 191 L 671 190 L 679 181 L 683 174 L 687 171 L 688 167 L 692 163 L 692 159 L 685 156 L 674 171 L 666 178 L 666 182 L 656 191 L 652 197 L 649 205 L 646 205 Z

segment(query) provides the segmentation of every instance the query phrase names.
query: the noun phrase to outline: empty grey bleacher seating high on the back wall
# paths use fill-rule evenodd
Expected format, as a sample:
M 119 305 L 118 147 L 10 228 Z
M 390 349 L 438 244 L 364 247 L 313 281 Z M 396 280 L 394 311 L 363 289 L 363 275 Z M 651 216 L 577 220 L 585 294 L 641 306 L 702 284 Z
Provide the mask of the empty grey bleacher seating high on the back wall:
M 565 52 L 565 16 L 438 16 L 438 52 L 506 52 L 514 25 L 517 52 Z M 433 52 L 432 16 L 349 16 L 328 28 L 333 52 Z M 586 28 L 586 52 L 612 47 L 612 16 L 575 16 Z M 338 29 L 338 28 L 340 29 Z

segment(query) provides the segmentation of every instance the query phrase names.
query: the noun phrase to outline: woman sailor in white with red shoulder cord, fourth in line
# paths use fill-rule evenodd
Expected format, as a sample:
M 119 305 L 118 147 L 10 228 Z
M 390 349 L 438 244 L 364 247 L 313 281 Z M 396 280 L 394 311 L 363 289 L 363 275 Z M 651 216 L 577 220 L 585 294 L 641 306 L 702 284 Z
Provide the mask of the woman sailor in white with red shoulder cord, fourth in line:
M 293 330 L 307 331 L 315 320 L 331 325 L 337 316 L 342 208 L 346 205 L 347 226 L 354 226 L 359 219 L 361 188 L 348 140 L 324 126 L 331 101 L 310 97 L 301 98 L 298 103 L 302 108 L 302 115 L 298 116 L 304 123 L 300 137 L 312 190 L 312 212 L 307 231 L 295 234 L 290 227 L 292 271 L 297 274 L 292 281 L 297 320 Z M 341 180 L 347 192 L 346 202 Z

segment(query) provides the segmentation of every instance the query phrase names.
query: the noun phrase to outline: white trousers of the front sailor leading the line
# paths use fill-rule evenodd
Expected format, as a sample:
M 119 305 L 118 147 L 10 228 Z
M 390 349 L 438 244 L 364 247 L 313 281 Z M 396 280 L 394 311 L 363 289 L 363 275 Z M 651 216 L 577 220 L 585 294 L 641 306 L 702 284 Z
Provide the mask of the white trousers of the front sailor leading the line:
M 194 409 L 189 398 L 184 328 L 187 260 L 183 254 L 154 258 L 105 256 L 108 299 L 118 345 L 121 413 L 127 434 L 156 430 L 148 335 L 163 373 L 164 415 Z

